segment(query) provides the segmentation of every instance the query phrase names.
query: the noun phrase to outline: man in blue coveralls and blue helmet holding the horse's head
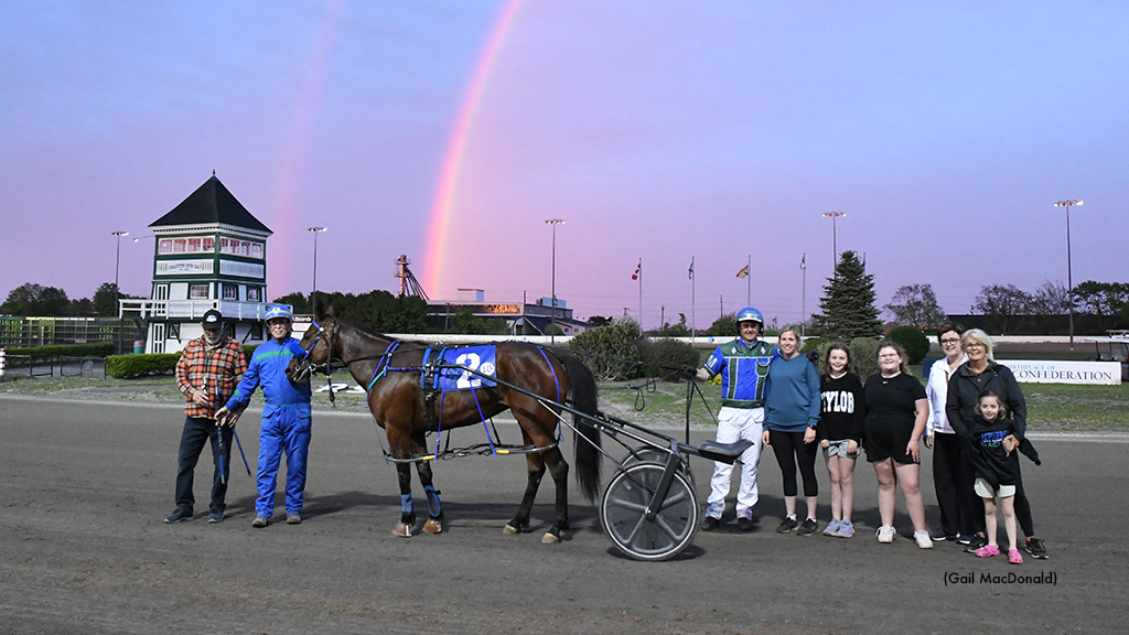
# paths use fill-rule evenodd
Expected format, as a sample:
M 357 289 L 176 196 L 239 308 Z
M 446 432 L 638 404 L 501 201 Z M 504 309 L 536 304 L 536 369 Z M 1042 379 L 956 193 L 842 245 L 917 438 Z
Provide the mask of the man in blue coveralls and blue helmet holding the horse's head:
M 235 425 L 255 389 L 263 389 L 262 428 L 259 433 L 259 498 L 251 527 L 264 528 L 274 513 L 274 489 L 279 463 L 286 452 L 286 522 L 301 522 L 306 489 L 306 459 L 309 452 L 309 383 L 296 384 L 286 376 L 294 357 L 305 357 L 298 340 L 290 337 L 294 315 L 283 305 L 266 311 L 271 340 L 255 349 L 247 372 L 224 408 L 216 411 L 221 425 Z

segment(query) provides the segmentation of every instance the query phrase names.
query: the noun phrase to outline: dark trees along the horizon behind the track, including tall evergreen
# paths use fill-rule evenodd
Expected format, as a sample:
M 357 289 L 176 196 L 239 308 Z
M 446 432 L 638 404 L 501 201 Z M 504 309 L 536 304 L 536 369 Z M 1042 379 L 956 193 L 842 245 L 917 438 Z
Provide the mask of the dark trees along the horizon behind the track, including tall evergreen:
M 12 289 L 0 314 L 21 316 L 115 316 L 115 299 L 133 298 L 119 294 L 116 285 L 103 282 L 90 298 L 71 299 L 56 287 L 25 282 Z M 390 333 L 455 332 L 473 334 L 505 334 L 506 321 L 501 318 L 479 318 L 463 307 L 446 315 L 441 322 L 428 322 L 428 305 L 414 296 L 395 296 L 375 289 L 365 294 L 340 292 L 321 293 L 318 302 L 332 303 L 336 315 L 368 324 Z M 296 313 L 312 313 L 310 297 L 292 293 L 273 302 L 294 306 Z M 1100 282 L 1086 280 L 1074 289 L 1058 281 L 1044 281 L 1033 292 L 1015 285 L 984 285 L 975 296 L 969 315 L 990 332 L 1065 333 L 1066 316 L 1074 307 L 1075 331 L 1080 334 L 1101 334 L 1106 330 L 1129 328 L 1129 282 Z M 899 287 L 891 302 L 883 308 L 890 314 L 889 325 L 911 325 L 929 331 L 953 313 L 947 313 L 937 302 L 929 284 Z M 832 278 L 828 278 L 820 299 L 820 313 L 805 324 L 807 331 L 835 339 L 882 336 L 887 324 L 881 318 L 874 292 L 874 276 L 866 272 L 866 264 L 854 251 L 844 251 L 835 263 Z M 589 327 L 597 328 L 618 322 L 613 318 L 593 315 Z M 768 327 L 768 324 L 765 324 Z M 704 336 L 728 337 L 736 332 L 733 314 L 723 315 Z M 648 331 L 651 337 L 689 337 L 686 316 L 679 313 L 679 322 L 663 324 Z

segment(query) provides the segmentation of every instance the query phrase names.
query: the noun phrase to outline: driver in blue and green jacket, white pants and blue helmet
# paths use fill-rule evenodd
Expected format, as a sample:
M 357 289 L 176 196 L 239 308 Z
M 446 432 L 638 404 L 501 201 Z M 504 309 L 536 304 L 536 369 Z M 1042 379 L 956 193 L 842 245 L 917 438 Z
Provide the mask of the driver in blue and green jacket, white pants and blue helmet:
M 698 369 L 698 379 L 708 381 L 721 375 L 721 409 L 717 414 L 717 442 L 735 443 L 747 438 L 753 444 L 741 454 L 741 488 L 737 489 L 737 529 L 752 531 L 756 504 L 756 468 L 761 462 L 761 433 L 764 429 L 764 386 L 774 348 L 758 338 L 764 328 L 761 312 L 746 306 L 737 312 L 739 337 L 724 343 Z M 710 495 L 702 529 L 710 531 L 721 523 L 725 497 L 729 494 L 733 466 L 714 463 Z

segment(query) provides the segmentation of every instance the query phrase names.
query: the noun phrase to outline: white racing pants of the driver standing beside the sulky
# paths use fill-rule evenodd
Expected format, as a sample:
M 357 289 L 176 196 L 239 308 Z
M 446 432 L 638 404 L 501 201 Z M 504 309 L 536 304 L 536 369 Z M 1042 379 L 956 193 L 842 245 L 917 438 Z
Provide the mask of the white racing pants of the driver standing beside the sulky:
M 741 487 L 737 489 L 737 517 L 752 517 L 753 505 L 756 504 L 756 468 L 761 462 L 761 433 L 764 432 L 764 408 L 729 408 L 721 407 L 717 414 L 717 442 L 735 443 L 743 438 L 752 441 L 741 454 Z M 733 466 L 714 463 L 714 478 L 710 479 L 710 494 L 706 501 L 706 515 L 721 517 L 725 511 L 725 497 L 729 494 L 729 480 Z

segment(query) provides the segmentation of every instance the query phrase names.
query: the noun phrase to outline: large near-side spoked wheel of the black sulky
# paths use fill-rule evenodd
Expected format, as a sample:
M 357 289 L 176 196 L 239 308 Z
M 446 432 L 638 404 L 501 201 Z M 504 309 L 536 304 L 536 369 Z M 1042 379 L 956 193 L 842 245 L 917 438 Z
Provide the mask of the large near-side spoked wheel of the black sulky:
M 689 479 L 674 473 L 663 503 L 647 517 L 647 505 L 663 479 L 660 463 L 634 463 L 612 478 L 599 504 L 599 524 L 615 548 L 637 560 L 665 560 L 685 549 L 698 530 L 698 496 Z

